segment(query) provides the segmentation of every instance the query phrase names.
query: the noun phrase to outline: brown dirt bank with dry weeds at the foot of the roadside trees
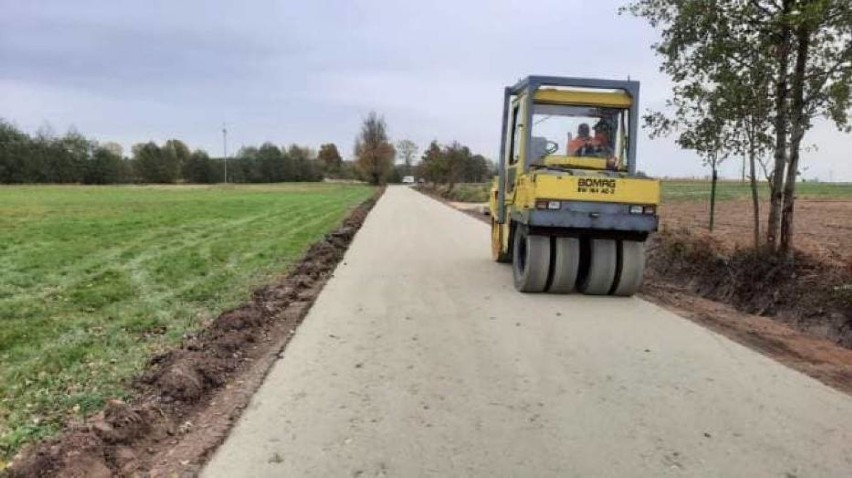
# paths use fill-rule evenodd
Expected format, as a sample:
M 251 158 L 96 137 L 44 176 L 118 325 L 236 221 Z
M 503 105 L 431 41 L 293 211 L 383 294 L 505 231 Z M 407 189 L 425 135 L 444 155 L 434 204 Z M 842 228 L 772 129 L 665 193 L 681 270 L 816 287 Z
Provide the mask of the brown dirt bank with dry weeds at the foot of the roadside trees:
M 650 279 L 678 283 L 698 296 L 773 317 L 852 348 L 852 272 L 797 253 L 793 262 L 729 247 L 685 228 L 652 236 Z

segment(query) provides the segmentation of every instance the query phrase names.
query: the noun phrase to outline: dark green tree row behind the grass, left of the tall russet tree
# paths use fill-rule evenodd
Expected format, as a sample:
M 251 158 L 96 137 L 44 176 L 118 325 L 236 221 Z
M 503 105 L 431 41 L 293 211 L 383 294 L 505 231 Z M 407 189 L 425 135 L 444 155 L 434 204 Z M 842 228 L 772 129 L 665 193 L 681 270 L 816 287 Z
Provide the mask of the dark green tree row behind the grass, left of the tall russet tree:
M 354 178 L 354 168 L 340 158 L 333 144 L 317 155 L 310 148 L 264 143 L 244 147 L 227 167 L 178 139 L 158 145 L 135 144 L 130 156 L 121 145 L 99 143 L 71 130 L 56 136 L 49 130 L 29 135 L 0 120 L 0 184 L 122 184 L 122 183 L 272 183 L 321 181 L 325 176 Z

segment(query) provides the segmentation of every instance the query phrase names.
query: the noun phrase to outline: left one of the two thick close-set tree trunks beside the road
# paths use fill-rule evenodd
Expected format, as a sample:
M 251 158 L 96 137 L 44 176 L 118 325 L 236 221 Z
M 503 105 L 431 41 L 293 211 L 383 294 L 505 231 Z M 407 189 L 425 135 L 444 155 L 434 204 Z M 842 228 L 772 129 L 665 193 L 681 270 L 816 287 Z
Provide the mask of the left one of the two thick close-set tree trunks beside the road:
M 778 232 L 781 227 L 781 205 L 784 200 L 784 170 L 787 165 L 787 68 L 790 64 L 790 14 L 792 0 L 781 2 L 781 24 L 778 32 L 778 78 L 775 80 L 775 166 L 770 180 L 769 220 L 766 224 L 766 242 L 773 252 L 778 250 Z

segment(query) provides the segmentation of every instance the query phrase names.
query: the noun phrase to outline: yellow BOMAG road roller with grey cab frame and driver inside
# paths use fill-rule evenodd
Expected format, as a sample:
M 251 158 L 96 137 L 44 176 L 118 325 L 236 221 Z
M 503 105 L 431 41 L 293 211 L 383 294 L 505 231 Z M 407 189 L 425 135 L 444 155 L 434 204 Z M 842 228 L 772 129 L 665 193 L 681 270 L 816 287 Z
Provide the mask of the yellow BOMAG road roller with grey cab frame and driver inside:
M 657 230 L 638 172 L 639 82 L 529 76 L 504 89 L 491 253 L 521 292 L 630 296 Z

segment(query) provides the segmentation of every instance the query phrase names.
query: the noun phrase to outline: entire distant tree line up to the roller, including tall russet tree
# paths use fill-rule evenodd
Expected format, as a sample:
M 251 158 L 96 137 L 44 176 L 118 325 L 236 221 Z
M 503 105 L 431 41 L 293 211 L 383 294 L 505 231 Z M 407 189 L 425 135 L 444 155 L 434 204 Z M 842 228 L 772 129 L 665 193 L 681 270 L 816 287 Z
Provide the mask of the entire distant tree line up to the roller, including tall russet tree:
M 225 161 L 170 139 L 135 144 L 126 156 L 121 145 L 99 143 L 75 130 L 62 136 L 45 129 L 29 135 L 0 119 L 0 184 L 275 183 L 324 178 L 385 184 L 416 175 L 452 188 L 458 182 L 486 181 L 494 174 L 490 161 L 458 142 L 442 146 L 433 141 L 418 161 L 417 145 L 410 140 L 391 143 L 387 124 L 376 113 L 364 119 L 353 152 L 355 159 L 346 161 L 333 143 L 315 152 L 266 142 L 243 147 Z

